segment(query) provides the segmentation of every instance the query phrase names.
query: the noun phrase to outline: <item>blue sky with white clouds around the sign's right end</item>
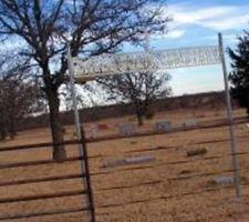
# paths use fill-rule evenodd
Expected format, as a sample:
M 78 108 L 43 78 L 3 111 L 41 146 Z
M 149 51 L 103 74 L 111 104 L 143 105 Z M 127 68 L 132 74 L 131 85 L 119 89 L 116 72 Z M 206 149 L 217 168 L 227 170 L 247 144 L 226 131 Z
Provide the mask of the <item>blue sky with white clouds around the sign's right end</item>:
M 225 48 L 249 29 L 249 0 L 167 0 L 165 16 L 173 18 L 168 33 L 151 37 L 152 49 L 215 46 L 218 32 Z M 132 48 L 126 48 L 132 51 Z M 230 61 L 227 57 L 227 65 Z M 174 95 L 224 90 L 221 65 L 169 70 Z

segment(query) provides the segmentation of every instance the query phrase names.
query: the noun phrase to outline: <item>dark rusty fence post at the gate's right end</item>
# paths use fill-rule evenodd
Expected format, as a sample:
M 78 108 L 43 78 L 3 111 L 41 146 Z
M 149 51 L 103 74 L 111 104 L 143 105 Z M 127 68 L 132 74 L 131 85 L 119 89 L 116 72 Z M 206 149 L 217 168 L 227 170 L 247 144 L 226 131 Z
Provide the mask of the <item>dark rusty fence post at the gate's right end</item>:
M 84 157 L 83 161 L 85 164 L 85 178 L 86 178 L 86 186 L 87 186 L 86 190 L 89 194 L 87 196 L 89 196 L 90 210 L 92 215 L 91 222 L 96 222 L 93 188 L 92 188 L 92 182 L 90 176 L 89 153 L 87 153 L 87 148 L 85 142 L 85 133 L 84 133 L 83 125 L 81 125 L 81 138 L 82 138 L 82 149 L 83 149 L 83 157 Z

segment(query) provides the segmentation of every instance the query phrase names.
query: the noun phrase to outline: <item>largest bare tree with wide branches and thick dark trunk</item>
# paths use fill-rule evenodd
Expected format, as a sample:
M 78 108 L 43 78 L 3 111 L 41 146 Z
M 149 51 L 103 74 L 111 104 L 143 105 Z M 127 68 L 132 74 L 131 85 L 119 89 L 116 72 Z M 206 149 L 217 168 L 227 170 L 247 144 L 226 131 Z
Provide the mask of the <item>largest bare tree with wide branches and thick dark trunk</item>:
M 166 30 L 168 18 L 160 16 L 163 10 L 158 2 L 0 0 L 0 33 L 24 40 L 23 54 L 31 57 L 41 69 L 55 144 L 63 141 L 59 88 L 68 70 L 65 39 L 71 37 L 73 57 L 115 52 L 125 41 L 137 43 L 145 28 L 149 33 Z M 65 159 L 62 145 L 54 145 L 53 158 L 58 161 Z

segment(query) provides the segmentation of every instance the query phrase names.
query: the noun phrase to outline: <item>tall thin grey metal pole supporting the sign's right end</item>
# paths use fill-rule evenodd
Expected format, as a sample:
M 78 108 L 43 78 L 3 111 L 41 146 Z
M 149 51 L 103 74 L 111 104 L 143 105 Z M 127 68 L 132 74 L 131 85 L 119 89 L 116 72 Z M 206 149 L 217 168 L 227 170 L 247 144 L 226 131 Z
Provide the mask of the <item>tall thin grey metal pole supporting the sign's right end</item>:
M 229 120 L 229 132 L 230 132 L 230 142 L 231 142 L 231 155 L 232 155 L 232 168 L 234 168 L 236 195 L 237 195 L 237 198 L 240 198 L 241 196 L 241 188 L 240 188 L 238 158 L 237 158 L 237 142 L 236 142 L 236 138 L 235 138 L 234 117 L 232 117 L 231 100 L 230 100 L 230 92 L 229 92 L 229 85 L 228 85 L 226 59 L 225 59 L 225 53 L 224 53 L 222 34 L 219 33 L 218 38 L 219 38 L 219 54 L 220 54 L 220 60 L 222 63 L 224 82 L 225 82 L 225 91 L 226 91 L 226 100 L 227 100 L 227 113 L 228 113 L 228 120 Z

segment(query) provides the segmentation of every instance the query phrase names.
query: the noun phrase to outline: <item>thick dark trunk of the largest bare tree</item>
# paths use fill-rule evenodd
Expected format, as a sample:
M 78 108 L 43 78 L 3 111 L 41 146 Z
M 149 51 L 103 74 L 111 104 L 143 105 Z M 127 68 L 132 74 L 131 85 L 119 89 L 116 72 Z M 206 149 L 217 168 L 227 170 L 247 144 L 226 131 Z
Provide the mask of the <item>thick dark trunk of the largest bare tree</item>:
M 50 127 L 53 139 L 53 160 L 63 162 L 66 159 L 66 152 L 63 143 L 63 132 L 60 122 L 60 99 L 56 90 L 46 91 L 50 107 Z

